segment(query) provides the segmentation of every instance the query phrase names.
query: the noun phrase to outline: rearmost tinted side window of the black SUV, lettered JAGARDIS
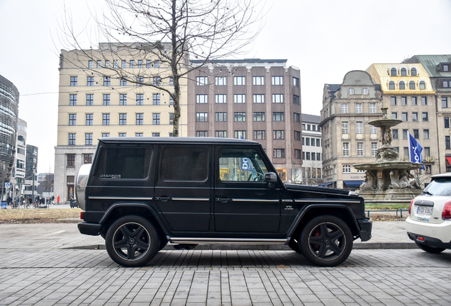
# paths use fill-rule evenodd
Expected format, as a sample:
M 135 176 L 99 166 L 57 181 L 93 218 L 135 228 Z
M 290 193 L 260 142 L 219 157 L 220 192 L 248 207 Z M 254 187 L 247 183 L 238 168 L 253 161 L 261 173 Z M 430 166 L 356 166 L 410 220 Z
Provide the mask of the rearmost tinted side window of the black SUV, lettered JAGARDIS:
M 149 147 L 106 147 L 98 176 L 101 179 L 146 179 L 151 159 Z

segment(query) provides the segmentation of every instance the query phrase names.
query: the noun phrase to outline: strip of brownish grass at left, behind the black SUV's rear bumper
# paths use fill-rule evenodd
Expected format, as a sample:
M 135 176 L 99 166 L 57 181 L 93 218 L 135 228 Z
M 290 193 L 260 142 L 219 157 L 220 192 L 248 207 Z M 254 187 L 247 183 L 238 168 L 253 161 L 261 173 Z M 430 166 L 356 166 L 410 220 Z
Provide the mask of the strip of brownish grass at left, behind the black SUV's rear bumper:
M 22 208 L 0 210 L 0 224 L 14 223 L 77 223 L 80 208 Z M 77 220 L 65 220 L 77 218 Z

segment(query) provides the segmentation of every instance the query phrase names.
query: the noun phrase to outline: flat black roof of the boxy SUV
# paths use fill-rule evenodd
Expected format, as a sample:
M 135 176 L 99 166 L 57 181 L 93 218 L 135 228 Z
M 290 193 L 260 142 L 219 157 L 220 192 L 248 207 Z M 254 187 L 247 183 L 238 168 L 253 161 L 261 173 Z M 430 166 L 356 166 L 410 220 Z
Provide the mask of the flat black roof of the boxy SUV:
M 252 140 L 224 137 L 101 137 L 99 142 L 260 145 Z

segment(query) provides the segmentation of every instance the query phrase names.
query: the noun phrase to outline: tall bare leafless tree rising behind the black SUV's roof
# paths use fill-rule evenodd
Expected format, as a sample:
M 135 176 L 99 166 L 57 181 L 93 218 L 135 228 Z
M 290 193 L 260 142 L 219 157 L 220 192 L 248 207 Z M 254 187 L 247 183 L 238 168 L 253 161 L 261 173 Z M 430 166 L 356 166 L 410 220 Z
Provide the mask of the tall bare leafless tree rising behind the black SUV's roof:
M 258 0 L 256 0 L 258 1 Z M 74 29 L 72 17 L 67 16 L 60 38 L 63 45 L 77 50 L 69 60 L 74 67 L 96 72 L 87 67 L 86 59 L 96 63 L 121 58 L 124 52 L 140 58 L 156 59 L 166 69 L 158 79 L 150 75 L 150 67 L 123 69 L 121 64 L 108 62 L 108 76 L 126 79 L 137 86 L 151 86 L 167 93 L 174 104 L 173 135 L 179 135 L 181 81 L 191 70 L 211 60 L 232 57 L 245 51 L 260 32 L 262 7 L 254 0 L 105 0 L 107 12 L 94 16 L 98 42 L 104 52 L 86 49 Z M 127 41 L 127 42 L 124 42 Z M 94 42 L 94 41 L 93 41 Z M 90 45 L 93 45 L 90 42 Z M 99 44 L 100 45 L 100 44 Z M 107 50 L 107 52 L 105 52 Z M 189 59 L 201 61 L 196 67 Z M 162 70 L 160 70 L 162 71 Z

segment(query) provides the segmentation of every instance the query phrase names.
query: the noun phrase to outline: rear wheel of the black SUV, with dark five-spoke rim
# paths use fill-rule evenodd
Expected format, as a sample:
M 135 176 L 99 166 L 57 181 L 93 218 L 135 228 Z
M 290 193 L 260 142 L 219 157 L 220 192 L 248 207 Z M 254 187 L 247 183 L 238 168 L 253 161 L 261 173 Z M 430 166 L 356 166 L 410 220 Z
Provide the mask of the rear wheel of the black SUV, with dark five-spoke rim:
M 160 237 L 145 218 L 129 215 L 108 228 L 105 246 L 111 259 L 121 266 L 144 266 L 157 254 Z

